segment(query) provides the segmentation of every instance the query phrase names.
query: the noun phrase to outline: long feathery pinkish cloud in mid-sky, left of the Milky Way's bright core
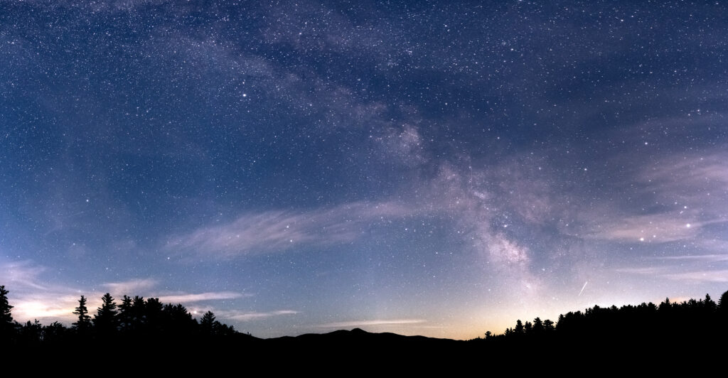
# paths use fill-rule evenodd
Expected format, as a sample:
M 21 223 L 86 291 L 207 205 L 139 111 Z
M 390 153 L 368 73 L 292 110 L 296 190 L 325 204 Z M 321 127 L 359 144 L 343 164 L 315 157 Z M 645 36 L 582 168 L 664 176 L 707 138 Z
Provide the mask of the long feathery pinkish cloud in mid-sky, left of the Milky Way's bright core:
M 309 212 L 244 214 L 226 225 L 202 227 L 170 238 L 166 248 L 234 257 L 301 246 L 328 246 L 354 241 L 370 222 L 411 213 L 411 209 L 392 202 L 356 202 Z

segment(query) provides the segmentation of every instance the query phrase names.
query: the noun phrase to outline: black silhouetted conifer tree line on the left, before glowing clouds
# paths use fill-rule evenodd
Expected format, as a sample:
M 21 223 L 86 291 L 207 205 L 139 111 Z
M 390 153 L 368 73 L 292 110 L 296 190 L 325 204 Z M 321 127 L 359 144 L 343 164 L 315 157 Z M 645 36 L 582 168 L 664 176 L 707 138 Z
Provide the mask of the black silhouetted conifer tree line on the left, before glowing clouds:
M 111 294 L 101 297 L 101 307 L 93 316 L 83 295 L 74 309 L 76 321 L 71 327 L 55 321 L 47 326 L 35 321 L 13 320 L 7 299 L 8 291 L 0 286 L 0 340 L 4 346 L 63 345 L 76 342 L 165 342 L 191 339 L 225 339 L 239 334 L 232 326 L 215 320 L 207 311 L 199 321 L 181 304 L 162 304 L 157 298 L 124 295 L 116 305 Z

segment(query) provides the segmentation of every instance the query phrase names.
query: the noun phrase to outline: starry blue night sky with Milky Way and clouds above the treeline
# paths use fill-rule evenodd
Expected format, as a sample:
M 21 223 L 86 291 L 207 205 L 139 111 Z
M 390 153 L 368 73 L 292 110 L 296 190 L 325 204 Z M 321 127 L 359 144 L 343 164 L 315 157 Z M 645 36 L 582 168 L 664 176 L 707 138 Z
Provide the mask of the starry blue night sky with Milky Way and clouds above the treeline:
M 467 339 L 728 289 L 728 4 L 0 1 L 0 285 Z

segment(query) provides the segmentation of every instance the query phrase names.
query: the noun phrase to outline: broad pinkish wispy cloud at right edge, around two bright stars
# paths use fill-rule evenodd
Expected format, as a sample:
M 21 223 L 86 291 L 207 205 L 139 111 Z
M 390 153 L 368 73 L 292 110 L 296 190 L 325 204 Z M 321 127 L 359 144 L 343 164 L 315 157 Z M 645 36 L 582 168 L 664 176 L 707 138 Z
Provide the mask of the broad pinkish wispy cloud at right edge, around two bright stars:
M 634 156 L 612 159 L 612 164 L 630 166 Z M 728 155 L 706 151 L 688 156 L 663 156 L 634 165 L 614 182 L 624 198 L 596 201 L 576 215 L 562 232 L 585 239 L 628 243 L 695 241 L 711 225 L 727 222 Z M 626 160 L 625 160 L 626 159 Z M 652 206 L 630 206 L 628 198 Z

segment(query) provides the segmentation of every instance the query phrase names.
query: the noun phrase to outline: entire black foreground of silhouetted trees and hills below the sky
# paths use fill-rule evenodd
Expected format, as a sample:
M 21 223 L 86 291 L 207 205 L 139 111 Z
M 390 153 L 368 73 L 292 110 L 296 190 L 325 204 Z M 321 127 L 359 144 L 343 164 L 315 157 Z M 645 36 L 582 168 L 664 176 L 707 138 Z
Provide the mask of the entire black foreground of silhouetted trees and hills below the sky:
M 122 375 L 168 369 L 188 374 L 204 369 L 207 374 L 350 375 L 385 368 L 408 372 L 587 368 L 608 374 L 684 370 L 695 375 L 728 361 L 728 291 L 717 303 L 706 295 L 681 303 L 665 299 L 660 305 L 595 306 L 560 315 L 556 322 L 519 320 L 503 334 L 488 332 L 484 338 L 467 341 L 361 329 L 259 339 L 219 323 L 213 313 L 197 321 L 182 305 L 162 305 L 154 298 L 124 296 L 117 311 L 108 294 L 93 319 L 82 297 L 74 312 L 79 321 L 70 328 L 59 323 L 20 324 L 12 321 L 12 306 L 4 294 L 7 291 L 0 286 L 0 307 L 4 307 L 0 365 L 55 373 L 74 367 L 82 374 Z

